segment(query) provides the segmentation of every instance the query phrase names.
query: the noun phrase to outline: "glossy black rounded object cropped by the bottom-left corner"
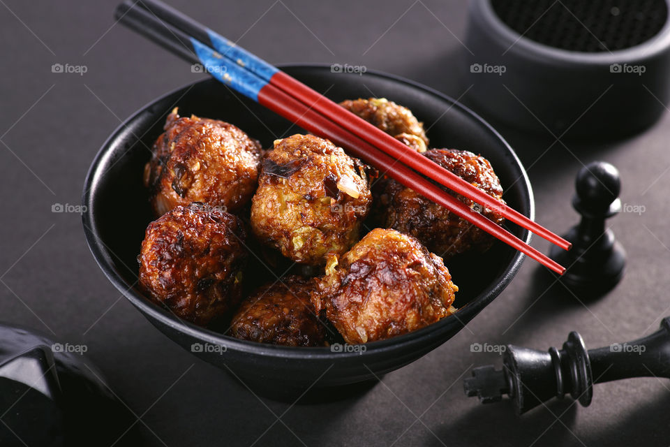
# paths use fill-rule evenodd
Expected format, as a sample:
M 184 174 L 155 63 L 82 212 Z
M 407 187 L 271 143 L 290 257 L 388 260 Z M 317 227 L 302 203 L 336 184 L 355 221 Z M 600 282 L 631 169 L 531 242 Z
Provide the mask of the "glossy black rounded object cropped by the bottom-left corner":
M 109 446 L 134 420 L 79 353 L 0 323 L 0 446 Z

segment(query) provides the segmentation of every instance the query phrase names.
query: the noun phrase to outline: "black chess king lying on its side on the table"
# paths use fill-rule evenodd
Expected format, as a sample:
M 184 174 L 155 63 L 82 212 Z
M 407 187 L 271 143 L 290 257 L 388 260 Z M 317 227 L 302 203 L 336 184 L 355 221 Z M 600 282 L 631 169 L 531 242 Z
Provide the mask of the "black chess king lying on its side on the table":
M 670 378 L 670 317 L 647 337 L 589 351 L 577 332 L 570 332 L 563 349 L 537 351 L 507 345 L 503 364 L 502 369 L 490 365 L 472 369 L 472 377 L 463 382 L 466 395 L 477 396 L 484 404 L 509 395 L 518 414 L 566 394 L 588 406 L 594 383 Z

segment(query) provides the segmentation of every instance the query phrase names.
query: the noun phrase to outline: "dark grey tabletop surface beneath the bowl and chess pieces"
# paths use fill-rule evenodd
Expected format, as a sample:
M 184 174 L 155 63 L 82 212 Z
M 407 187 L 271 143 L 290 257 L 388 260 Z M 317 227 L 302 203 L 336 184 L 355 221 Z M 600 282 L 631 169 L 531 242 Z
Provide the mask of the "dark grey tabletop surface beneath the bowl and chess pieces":
M 114 24 L 116 0 L 0 3 L 0 319 L 85 344 L 140 417 L 131 432 L 144 444 L 670 444 L 667 380 L 600 385 L 588 408 L 564 400 L 522 418 L 509 402 L 482 406 L 466 398 L 462 386 L 473 365 L 500 363 L 495 353 L 470 352 L 472 343 L 546 349 L 579 330 L 587 346 L 604 346 L 653 332 L 670 315 L 670 115 L 632 138 L 549 150 L 549 135 L 494 123 L 528 168 L 537 220 L 553 230 L 576 222 L 570 198 L 583 163 L 604 159 L 619 168 L 623 203 L 643 212 L 609 222 L 628 255 L 625 278 L 609 295 L 586 303 L 544 293 L 537 263 L 526 261 L 502 295 L 439 349 L 363 395 L 291 406 L 255 397 L 161 335 L 98 269 L 80 215 L 52 212 L 56 203 L 80 203 L 87 168 L 121 120 L 198 75 Z M 456 76 L 465 1 L 170 3 L 275 64 L 364 64 L 456 98 L 468 89 Z M 52 64 L 87 71 L 52 73 Z

